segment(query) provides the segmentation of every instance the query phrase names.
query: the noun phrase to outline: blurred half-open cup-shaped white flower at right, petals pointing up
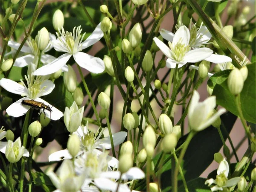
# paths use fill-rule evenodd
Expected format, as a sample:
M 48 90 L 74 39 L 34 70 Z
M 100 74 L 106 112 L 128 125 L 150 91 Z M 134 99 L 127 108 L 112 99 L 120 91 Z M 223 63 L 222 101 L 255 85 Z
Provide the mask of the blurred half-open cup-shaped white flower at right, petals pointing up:
M 217 113 L 212 115 L 212 112 L 216 106 L 216 96 L 210 96 L 199 102 L 199 93 L 194 90 L 193 96 L 188 110 L 189 125 L 194 131 L 202 131 L 211 125 L 215 120 L 225 113 L 225 109 L 220 109 Z

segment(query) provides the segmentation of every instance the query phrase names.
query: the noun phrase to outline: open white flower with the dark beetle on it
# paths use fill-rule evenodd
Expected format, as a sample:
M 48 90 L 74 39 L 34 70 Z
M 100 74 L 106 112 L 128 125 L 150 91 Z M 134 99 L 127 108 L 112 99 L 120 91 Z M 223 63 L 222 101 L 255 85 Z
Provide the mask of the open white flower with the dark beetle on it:
M 10 105 L 6 109 L 6 113 L 8 113 L 9 116 L 14 117 L 24 115 L 26 112 L 29 111 L 31 107 L 28 105 L 22 105 L 21 102 L 24 99 L 33 99 L 34 101 L 42 102 L 44 103 L 44 105 L 49 105 L 51 107 L 52 112 L 44 110 L 48 118 L 51 118 L 52 120 L 60 119 L 63 116 L 63 113 L 40 98 L 41 96 L 45 96 L 51 93 L 55 87 L 55 84 L 53 84 L 52 81 L 49 80 L 42 80 L 41 77 L 37 77 L 36 79 L 34 79 L 33 76 L 25 76 L 25 79 L 28 87 L 26 87 L 26 84 L 22 80 L 20 81 L 23 85 L 18 84 L 11 79 L 3 78 L 0 80 L 0 86 L 3 87 L 5 90 L 14 94 L 25 96 Z M 43 109 L 41 109 L 41 112 L 43 112 Z

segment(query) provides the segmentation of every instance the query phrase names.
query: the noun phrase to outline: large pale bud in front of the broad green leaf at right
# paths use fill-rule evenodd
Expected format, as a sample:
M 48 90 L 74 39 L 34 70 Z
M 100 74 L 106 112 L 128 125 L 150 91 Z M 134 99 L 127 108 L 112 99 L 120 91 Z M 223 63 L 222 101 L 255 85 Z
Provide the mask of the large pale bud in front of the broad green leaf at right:
M 239 93 L 241 93 L 244 87 L 244 78 L 238 68 L 234 68 L 230 72 L 230 75 L 227 79 L 227 85 L 231 94 L 238 95 Z

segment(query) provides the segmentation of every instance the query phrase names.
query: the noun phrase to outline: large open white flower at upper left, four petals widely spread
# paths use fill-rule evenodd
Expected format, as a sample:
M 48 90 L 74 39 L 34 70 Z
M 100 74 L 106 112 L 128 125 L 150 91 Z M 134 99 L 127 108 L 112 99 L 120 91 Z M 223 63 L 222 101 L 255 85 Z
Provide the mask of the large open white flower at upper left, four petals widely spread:
M 100 23 L 84 42 L 82 41 L 85 33 L 81 35 L 81 31 L 81 26 L 77 28 L 75 27 L 73 29 L 73 34 L 72 32 L 65 32 L 63 28 L 62 31 L 59 29 L 59 34 L 61 36 L 57 33 L 58 39 L 52 41 L 52 45 L 56 51 L 66 53 L 56 58 L 51 63 L 40 67 L 35 71 L 34 75 L 45 76 L 55 73 L 67 63 L 72 55 L 80 67 L 87 69 L 91 73 L 102 73 L 105 69 L 102 59 L 81 52 L 81 50 L 90 47 L 102 38 L 103 32 L 100 29 Z

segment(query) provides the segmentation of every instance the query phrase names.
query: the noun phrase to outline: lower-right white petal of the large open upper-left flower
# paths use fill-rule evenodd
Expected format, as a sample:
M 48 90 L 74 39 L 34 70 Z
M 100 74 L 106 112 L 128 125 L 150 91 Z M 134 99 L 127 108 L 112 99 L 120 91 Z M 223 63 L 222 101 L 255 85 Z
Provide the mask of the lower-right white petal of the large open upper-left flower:
M 84 52 L 77 52 L 73 56 L 80 67 L 87 69 L 91 73 L 102 73 L 105 70 L 105 65 L 101 58 L 93 57 Z

